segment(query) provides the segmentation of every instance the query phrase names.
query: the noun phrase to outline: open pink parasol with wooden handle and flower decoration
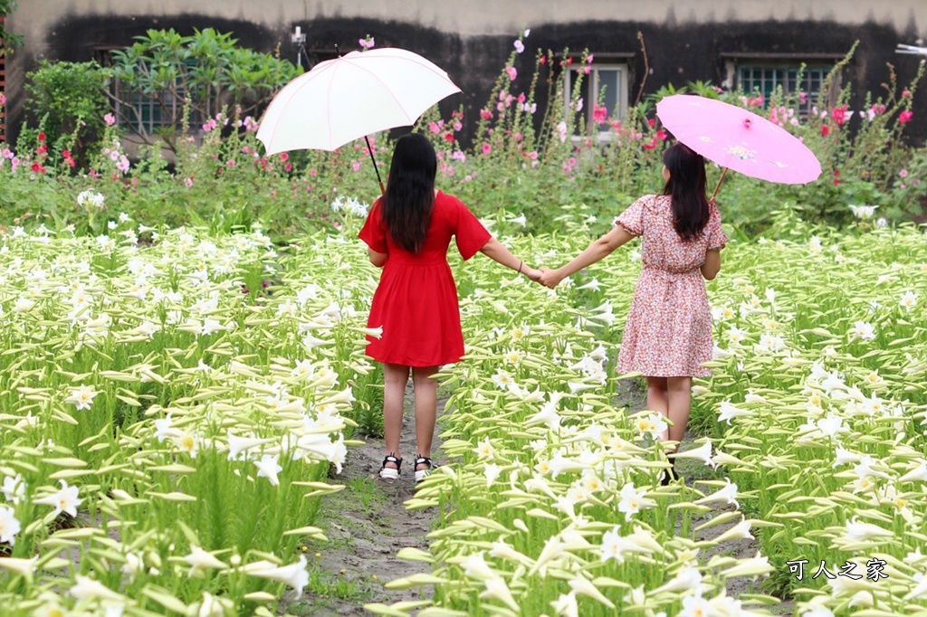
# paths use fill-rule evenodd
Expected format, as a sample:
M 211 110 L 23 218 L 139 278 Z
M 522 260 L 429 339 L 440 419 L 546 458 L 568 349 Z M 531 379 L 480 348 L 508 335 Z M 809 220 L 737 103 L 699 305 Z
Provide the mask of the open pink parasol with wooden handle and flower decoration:
M 782 184 L 806 184 L 820 175 L 818 157 L 801 140 L 742 107 L 674 94 L 656 104 L 656 115 L 679 142 L 725 168 L 725 173 L 731 169 Z

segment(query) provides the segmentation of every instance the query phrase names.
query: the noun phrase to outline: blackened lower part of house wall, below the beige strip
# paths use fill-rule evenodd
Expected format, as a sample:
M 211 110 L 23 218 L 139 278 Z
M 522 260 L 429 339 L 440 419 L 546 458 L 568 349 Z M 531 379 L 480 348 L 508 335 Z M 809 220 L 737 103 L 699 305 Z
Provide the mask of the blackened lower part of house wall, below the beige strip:
M 488 17 L 488 19 L 490 19 Z M 212 27 L 232 31 L 240 45 L 263 52 L 273 52 L 278 46 L 284 57 L 295 60 L 297 50 L 289 34 L 294 24 L 282 24 L 273 30 L 260 25 L 205 15 L 159 16 L 149 18 L 68 17 L 58 22 L 48 41 L 48 57 L 81 61 L 93 57 L 95 46 L 127 46 L 133 36 L 151 28 L 173 28 L 181 33 Z M 412 23 L 383 22 L 372 19 L 332 18 L 299 21 L 306 31 L 307 50 L 311 61 L 330 57 L 337 44 L 342 52 L 358 47 L 358 39 L 369 34 L 377 47 L 398 46 L 422 54 L 447 70 L 463 94 L 455 94 L 441 103 L 445 117 L 451 109 L 464 105 L 464 140 L 472 136 L 478 110 L 503 69 L 503 63 L 513 50 L 514 36 L 476 36 L 463 38 L 455 33 L 437 31 Z M 860 44 L 853 60 L 844 71 L 844 85 L 852 85 L 855 96 L 851 108 L 859 108 L 867 91 L 874 96 L 885 94 L 882 84 L 888 82 L 890 71 L 886 63 L 895 66 L 899 90 L 915 75 L 920 57 L 895 54 L 895 44 L 912 42 L 915 34 L 876 23 L 847 26 L 826 21 L 765 21 L 677 23 L 672 15 L 662 24 L 633 21 L 578 21 L 570 24 L 532 27 L 525 40 L 526 51 L 518 58 L 519 76 L 511 92 L 527 89 L 531 79 L 533 57 L 540 49 L 555 53 L 565 47 L 579 52 L 585 48 L 596 54 L 632 54 L 629 66 L 629 104 L 632 104 L 641 82 L 643 94 L 650 94 L 667 83 L 680 86 L 690 81 L 704 80 L 719 84 L 726 77 L 722 54 L 730 53 L 792 53 L 844 54 L 854 41 Z M 638 32 L 643 34 L 649 65 L 644 74 L 644 58 Z M 36 58 L 21 58 L 26 69 L 32 69 Z M 546 67 L 544 70 L 556 69 Z M 546 72 L 541 75 L 547 77 Z M 644 82 L 644 79 L 646 81 Z M 539 88 L 539 107 L 544 103 L 544 88 Z M 10 106 L 9 128 L 23 120 L 23 93 L 7 93 L 20 97 Z M 927 138 L 927 94 L 916 93 L 914 120 L 906 134 L 918 143 Z M 539 114 L 540 115 L 540 114 Z M 15 139 L 15 134 L 10 135 Z M 12 141 L 12 140 L 11 140 Z

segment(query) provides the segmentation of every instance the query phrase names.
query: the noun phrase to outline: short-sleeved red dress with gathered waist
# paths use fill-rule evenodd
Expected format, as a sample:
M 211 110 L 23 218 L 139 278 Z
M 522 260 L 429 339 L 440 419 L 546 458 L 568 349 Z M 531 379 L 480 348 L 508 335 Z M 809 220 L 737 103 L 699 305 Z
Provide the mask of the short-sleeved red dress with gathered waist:
M 455 236 L 461 257 L 469 259 L 492 236 L 460 199 L 438 191 L 425 246 L 410 253 L 393 243 L 380 208 L 377 199 L 358 234 L 367 246 L 388 255 L 367 319 L 367 327 L 382 326 L 383 335 L 367 336 L 367 355 L 404 366 L 459 362 L 464 334 L 448 246 Z

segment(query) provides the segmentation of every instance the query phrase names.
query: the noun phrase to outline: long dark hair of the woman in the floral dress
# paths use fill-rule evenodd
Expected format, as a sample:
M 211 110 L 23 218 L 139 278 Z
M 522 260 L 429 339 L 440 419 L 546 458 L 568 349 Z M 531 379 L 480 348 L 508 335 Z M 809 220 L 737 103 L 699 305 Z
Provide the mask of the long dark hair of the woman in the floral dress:
M 702 233 L 711 216 L 705 195 L 705 157 L 677 143 L 663 153 L 663 164 L 669 170 L 663 195 L 673 198 L 673 227 L 689 242 Z

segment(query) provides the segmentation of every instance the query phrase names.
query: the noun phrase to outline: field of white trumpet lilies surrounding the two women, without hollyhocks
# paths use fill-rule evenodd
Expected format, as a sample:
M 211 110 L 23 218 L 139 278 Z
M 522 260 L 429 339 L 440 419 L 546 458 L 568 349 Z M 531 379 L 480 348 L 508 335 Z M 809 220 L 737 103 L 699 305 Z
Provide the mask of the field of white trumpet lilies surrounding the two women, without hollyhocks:
M 324 538 L 316 513 L 381 393 L 363 356 L 378 273 L 351 203 L 340 232 L 287 246 L 128 217 L 96 237 L 6 233 L 7 614 L 274 614 L 302 593 L 302 547 Z M 593 219 L 487 223 L 556 266 Z M 927 614 L 922 232 L 783 211 L 723 258 L 715 374 L 678 455 L 704 479 L 661 486 L 661 420 L 629 412 L 635 377 L 614 371 L 637 249 L 555 291 L 451 256 L 467 357 L 440 373 L 448 464 L 406 503 L 434 512 L 429 550 L 399 553 L 432 573 L 387 583 L 430 591 L 366 608 L 749 615 L 794 597 L 815 617 Z M 755 555 L 726 551 L 743 538 Z M 731 597 L 738 578 L 755 585 Z

